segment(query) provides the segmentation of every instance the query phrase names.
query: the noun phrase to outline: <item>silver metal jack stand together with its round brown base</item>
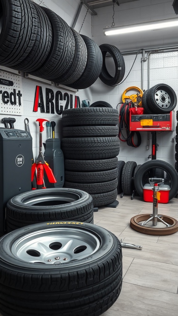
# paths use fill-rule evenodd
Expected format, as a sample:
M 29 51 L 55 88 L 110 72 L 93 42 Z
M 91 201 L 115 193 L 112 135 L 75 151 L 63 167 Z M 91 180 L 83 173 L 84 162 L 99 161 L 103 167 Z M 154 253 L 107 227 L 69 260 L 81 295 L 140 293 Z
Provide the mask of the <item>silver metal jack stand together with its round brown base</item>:
M 160 199 L 159 185 L 164 184 L 162 178 L 149 178 L 150 184 L 154 184 L 153 190 L 153 214 L 139 214 L 130 219 L 130 227 L 139 233 L 148 235 L 170 235 L 178 231 L 178 221 L 170 216 L 158 215 L 158 199 Z M 141 223 L 145 221 L 144 223 Z M 152 221 L 152 226 L 146 227 Z M 157 227 L 157 222 L 162 222 L 164 226 Z

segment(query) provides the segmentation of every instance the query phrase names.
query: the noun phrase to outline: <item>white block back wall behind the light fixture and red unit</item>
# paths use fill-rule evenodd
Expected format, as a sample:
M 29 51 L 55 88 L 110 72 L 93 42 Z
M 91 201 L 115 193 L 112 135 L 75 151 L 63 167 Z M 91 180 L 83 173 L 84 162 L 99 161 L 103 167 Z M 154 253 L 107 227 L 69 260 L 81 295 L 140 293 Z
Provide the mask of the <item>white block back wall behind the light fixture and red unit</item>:
M 176 17 L 172 3 L 173 1 L 171 0 L 139 0 L 124 4 L 121 3 L 120 6 L 115 4 L 115 26 Z M 140 48 L 147 49 L 165 46 L 177 46 L 178 28 L 175 28 L 174 30 L 171 29 L 171 32 L 164 29 L 161 32 L 149 32 L 150 34 L 143 32 L 137 34 L 123 34 L 120 36 L 105 36 L 103 35 L 103 28 L 105 28 L 106 25 L 110 27 L 112 24 L 112 5 L 104 8 L 98 8 L 96 11 L 98 16 L 92 16 L 92 38 L 98 45 L 104 43 L 111 44 L 117 46 L 121 52 L 138 50 Z M 145 53 L 145 56 L 146 55 L 147 53 Z M 158 83 L 164 83 L 172 87 L 176 94 L 178 93 L 177 55 L 178 52 L 151 54 L 150 88 Z M 135 56 L 136 55 L 124 56 L 125 76 L 128 74 Z M 107 100 L 109 96 L 109 103 L 114 108 L 116 108 L 117 104 L 122 102 L 122 93 L 126 88 L 131 86 L 137 86 L 141 88 L 141 57 L 142 54 L 138 54 L 136 62 L 129 76 L 122 84 L 118 85 L 117 87 L 109 87 L 99 80 L 97 81 L 96 85 L 93 84 L 93 102 L 102 100 L 101 92 L 105 91 L 105 94 L 107 94 Z M 148 60 L 144 62 L 143 66 L 143 89 L 148 89 Z M 97 95 L 97 91 L 100 91 L 100 94 Z M 120 106 L 118 106 L 118 110 L 119 109 Z M 175 111 L 176 110 L 178 110 L 178 106 L 176 106 Z M 156 135 L 157 143 L 159 144 L 158 150 L 156 152 L 156 158 L 167 161 L 172 166 L 175 166 L 175 143 L 171 142 L 172 138 L 175 137 L 175 131 L 156 133 Z M 133 160 L 136 161 L 137 164 L 142 164 L 148 161 L 148 156 L 151 154 L 151 133 L 149 150 L 146 150 L 148 137 L 147 132 L 141 132 L 141 137 L 142 143 L 138 148 L 132 148 L 126 143 L 120 142 L 120 153 L 118 155 L 118 159 L 124 161 Z

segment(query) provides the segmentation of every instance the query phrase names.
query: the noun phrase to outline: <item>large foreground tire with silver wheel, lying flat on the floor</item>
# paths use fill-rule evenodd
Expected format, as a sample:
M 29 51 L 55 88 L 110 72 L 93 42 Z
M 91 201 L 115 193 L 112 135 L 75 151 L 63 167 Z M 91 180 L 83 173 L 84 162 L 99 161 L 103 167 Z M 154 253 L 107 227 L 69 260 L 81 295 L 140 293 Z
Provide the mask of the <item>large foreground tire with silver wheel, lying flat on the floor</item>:
M 62 244 L 56 242 L 56 235 L 62 236 Z M 63 247 L 68 240 L 74 240 L 77 247 L 68 247 L 67 252 Z M 21 253 L 17 253 L 17 242 Z M 60 254 L 61 259 L 68 260 L 54 264 L 59 263 L 55 258 L 60 258 Z M 52 262 L 47 262 L 49 257 Z M 121 291 L 121 244 L 114 234 L 97 225 L 34 224 L 1 238 L 0 274 L 4 276 L 0 280 L 3 315 L 100 315 L 112 306 Z

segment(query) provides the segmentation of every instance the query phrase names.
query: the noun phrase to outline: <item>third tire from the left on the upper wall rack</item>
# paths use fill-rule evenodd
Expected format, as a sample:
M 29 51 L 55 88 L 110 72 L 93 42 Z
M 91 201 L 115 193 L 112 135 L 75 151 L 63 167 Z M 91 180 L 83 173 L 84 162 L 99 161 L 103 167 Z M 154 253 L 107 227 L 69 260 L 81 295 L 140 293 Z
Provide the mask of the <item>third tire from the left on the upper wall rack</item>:
M 52 45 L 44 64 L 30 74 L 53 80 L 70 69 L 75 54 L 75 40 L 70 27 L 59 15 L 48 8 L 41 8 L 48 16 L 53 29 Z

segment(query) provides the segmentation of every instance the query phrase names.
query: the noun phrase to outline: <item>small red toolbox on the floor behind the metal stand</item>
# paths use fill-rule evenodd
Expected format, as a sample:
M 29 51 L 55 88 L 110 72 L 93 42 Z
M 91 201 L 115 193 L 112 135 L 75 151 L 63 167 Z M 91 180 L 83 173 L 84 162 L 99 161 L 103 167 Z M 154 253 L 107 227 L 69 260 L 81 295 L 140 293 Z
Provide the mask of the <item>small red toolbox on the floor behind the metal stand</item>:
M 145 202 L 152 202 L 153 203 L 153 188 L 154 185 L 151 184 L 145 184 L 143 186 L 143 200 Z M 159 186 L 160 191 L 160 200 L 158 199 L 158 203 L 168 203 L 169 201 L 169 191 L 170 186 L 169 185 L 160 185 Z

